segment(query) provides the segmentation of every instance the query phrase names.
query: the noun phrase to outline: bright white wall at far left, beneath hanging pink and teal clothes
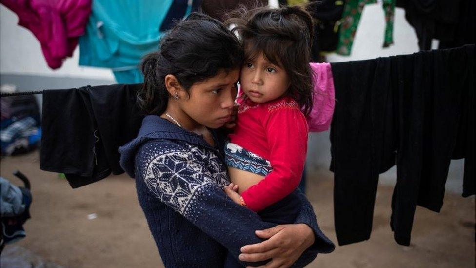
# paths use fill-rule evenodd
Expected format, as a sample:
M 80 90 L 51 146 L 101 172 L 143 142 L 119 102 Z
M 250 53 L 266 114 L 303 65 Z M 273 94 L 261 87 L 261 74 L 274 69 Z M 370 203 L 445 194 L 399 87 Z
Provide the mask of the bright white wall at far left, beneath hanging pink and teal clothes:
M 17 14 L 0 6 L 0 72 L 2 74 L 78 77 L 114 80 L 109 69 L 79 67 L 79 48 L 63 66 L 52 70 L 46 64 L 40 43 L 33 34 L 17 25 Z

